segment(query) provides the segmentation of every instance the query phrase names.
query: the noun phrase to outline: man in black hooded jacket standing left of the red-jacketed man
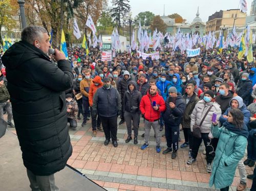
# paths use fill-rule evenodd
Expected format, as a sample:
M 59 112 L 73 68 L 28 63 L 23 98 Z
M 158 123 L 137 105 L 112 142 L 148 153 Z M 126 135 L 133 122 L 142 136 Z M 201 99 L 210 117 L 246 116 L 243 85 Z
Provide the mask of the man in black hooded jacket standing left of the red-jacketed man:
M 127 91 L 123 96 L 124 120 L 127 127 L 128 137 L 125 142 L 132 140 L 132 121 L 134 126 L 134 144 L 138 144 L 138 130 L 140 120 L 140 100 L 141 93 L 136 89 L 135 81 L 129 82 Z

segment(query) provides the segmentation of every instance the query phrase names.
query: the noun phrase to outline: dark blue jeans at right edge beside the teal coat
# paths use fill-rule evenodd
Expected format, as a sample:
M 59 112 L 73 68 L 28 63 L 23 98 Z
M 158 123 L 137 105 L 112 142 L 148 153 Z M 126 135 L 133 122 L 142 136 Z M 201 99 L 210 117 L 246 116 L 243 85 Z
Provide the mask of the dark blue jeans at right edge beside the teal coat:
M 248 145 L 247 145 L 247 158 L 254 161 L 256 159 L 256 131 L 250 130 L 248 136 Z

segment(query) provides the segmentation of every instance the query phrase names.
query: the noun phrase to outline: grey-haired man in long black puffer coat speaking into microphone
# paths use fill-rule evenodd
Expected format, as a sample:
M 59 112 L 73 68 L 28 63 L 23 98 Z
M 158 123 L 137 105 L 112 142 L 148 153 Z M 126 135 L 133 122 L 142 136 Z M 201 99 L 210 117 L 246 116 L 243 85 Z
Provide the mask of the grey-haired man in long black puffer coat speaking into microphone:
M 57 66 L 47 56 L 49 36 L 42 27 L 23 30 L 22 40 L 2 57 L 13 120 L 32 190 L 58 190 L 54 173 L 72 154 L 65 90 L 73 85 L 69 61 L 55 49 Z

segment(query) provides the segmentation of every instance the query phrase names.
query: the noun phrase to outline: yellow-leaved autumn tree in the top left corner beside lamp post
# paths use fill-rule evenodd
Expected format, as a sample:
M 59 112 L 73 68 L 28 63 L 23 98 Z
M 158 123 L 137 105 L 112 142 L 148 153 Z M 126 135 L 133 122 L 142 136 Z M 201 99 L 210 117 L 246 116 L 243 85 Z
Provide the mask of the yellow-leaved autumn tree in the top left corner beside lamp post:
M 16 27 L 16 22 L 13 19 L 15 12 L 14 10 L 17 7 L 15 6 L 14 2 L 11 0 L 0 0 L 0 43 L 3 45 L 3 38 L 2 38 L 2 27 L 5 27 L 8 32 L 10 32 L 13 28 Z

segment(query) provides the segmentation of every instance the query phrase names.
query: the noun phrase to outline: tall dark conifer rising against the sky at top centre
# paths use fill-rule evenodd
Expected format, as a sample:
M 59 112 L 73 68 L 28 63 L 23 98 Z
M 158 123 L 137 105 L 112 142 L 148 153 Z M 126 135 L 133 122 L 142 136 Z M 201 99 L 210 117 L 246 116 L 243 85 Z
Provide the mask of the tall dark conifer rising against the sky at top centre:
M 131 10 L 129 5 L 130 0 L 112 0 L 111 3 L 113 5 L 113 8 L 111 9 L 111 17 L 117 22 L 119 33 L 119 29 L 121 28 L 121 18 L 126 16 Z

